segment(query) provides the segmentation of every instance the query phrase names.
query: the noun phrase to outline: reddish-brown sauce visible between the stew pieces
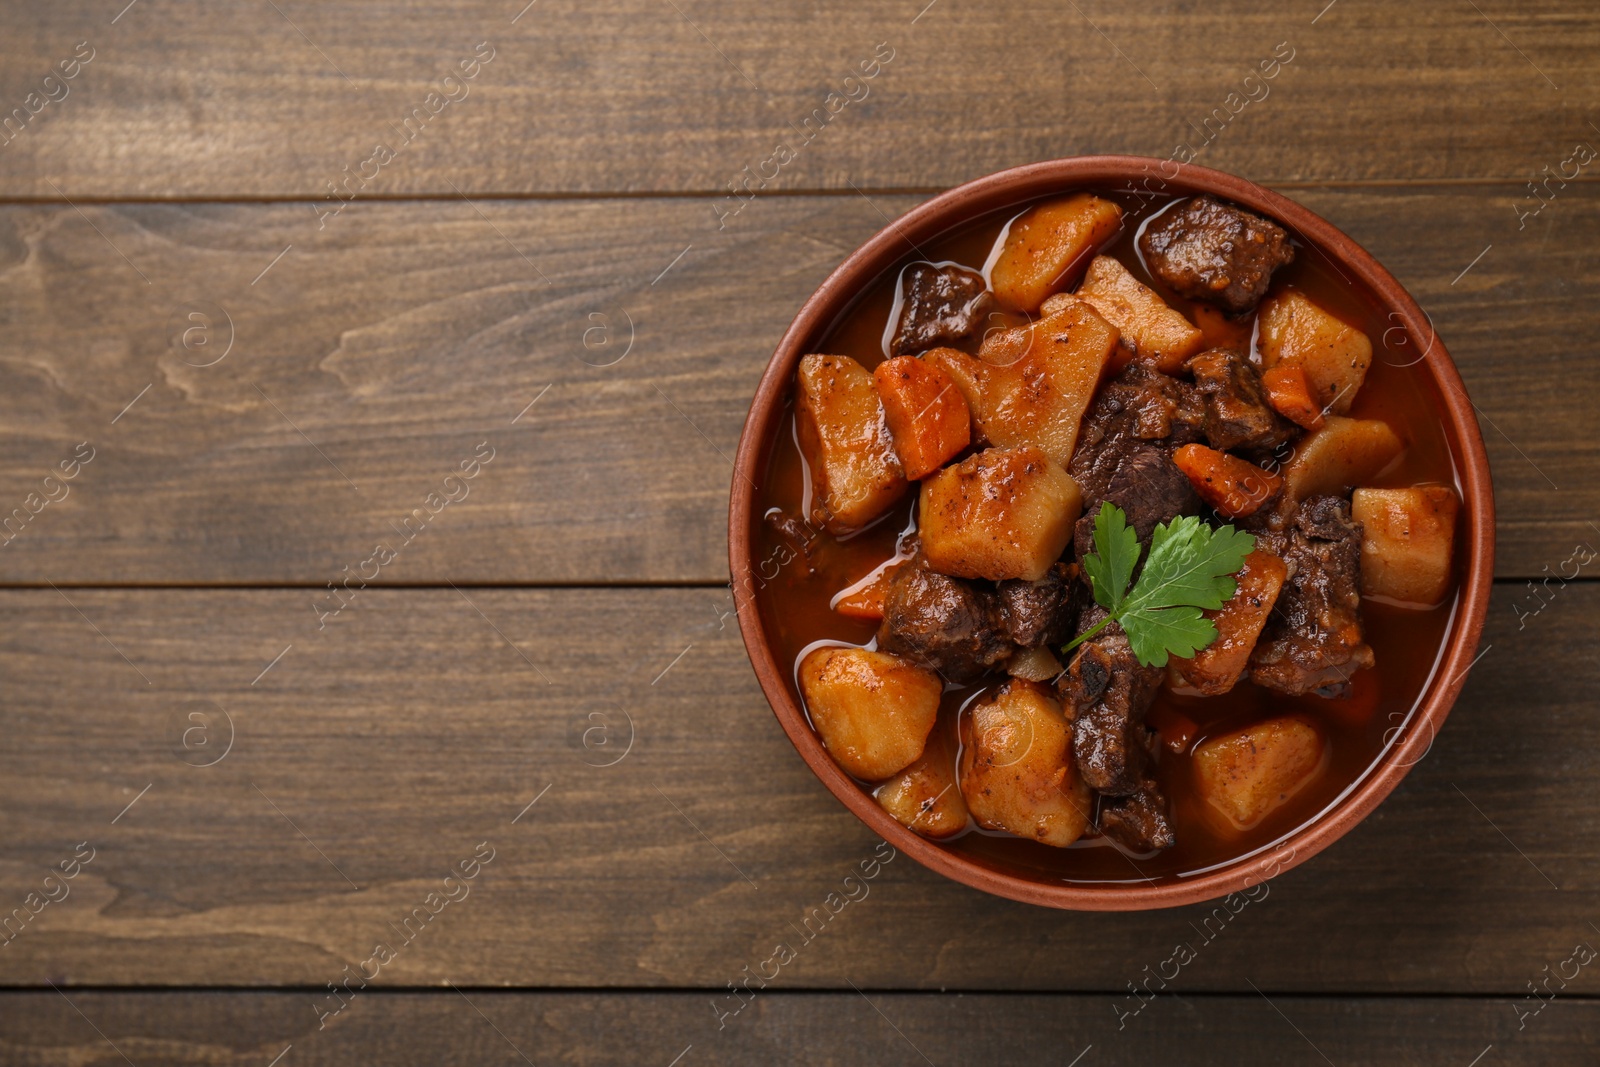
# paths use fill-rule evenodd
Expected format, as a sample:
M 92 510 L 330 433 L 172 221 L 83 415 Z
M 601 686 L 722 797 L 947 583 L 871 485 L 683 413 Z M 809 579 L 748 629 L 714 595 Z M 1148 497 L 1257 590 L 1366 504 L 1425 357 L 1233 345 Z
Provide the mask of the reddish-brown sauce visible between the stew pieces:
M 1133 197 L 1093 192 L 1118 200 L 1125 210 L 1126 226 L 1101 250 L 1102 254 L 1115 256 L 1171 307 L 1208 330 L 1208 341 L 1221 336 L 1210 333 L 1213 326 L 1208 322 L 1214 323 L 1216 330 L 1232 328 L 1242 330 L 1242 336 L 1250 334 L 1253 317 L 1243 325 L 1224 323 L 1218 314 L 1163 286 L 1141 262 L 1134 245 L 1139 226 L 1173 203 L 1171 198 L 1139 202 Z M 973 270 L 982 269 L 1008 219 L 1027 206 L 1030 205 L 1016 205 L 925 242 L 917 253 L 878 277 L 813 350 L 848 355 L 867 370 L 877 366 L 885 358 L 885 325 L 894 304 L 901 270 L 918 261 L 954 261 Z M 1294 262 L 1274 275 L 1272 291 L 1277 293 L 1285 286 L 1304 290 L 1312 301 L 1365 331 L 1373 342 L 1373 363 L 1357 394 L 1350 418 L 1384 419 L 1408 445 L 1402 459 L 1374 485 L 1378 488 L 1448 485 L 1459 494 L 1456 458 L 1445 426 L 1435 414 L 1442 402 L 1427 370 L 1416 363 L 1427 341 L 1406 338 L 1395 322 L 1384 317 L 1370 294 L 1358 290 L 1354 280 L 1341 277 L 1338 267 L 1301 240 L 1296 240 Z M 995 314 L 990 318 L 994 326 L 1019 322 L 1024 322 L 1019 315 Z M 981 331 L 962 347 L 976 354 L 979 341 Z M 805 464 L 795 443 L 790 397 L 790 408 L 779 421 L 757 514 L 781 507 L 790 515 L 803 515 L 808 488 Z M 774 641 L 779 662 L 797 667 L 805 651 L 818 643 L 874 641 L 875 622 L 845 617 L 830 605 L 840 590 L 896 555 L 896 539 L 912 525 L 915 499 L 915 491 L 907 493 L 885 517 L 846 539 L 818 536 L 813 545 L 816 574 L 811 576 L 806 574 L 803 560 L 795 557 L 790 542 L 776 534 L 770 525 L 758 523 L 752 550 L 757 561 L 754 581 L 763 622 Z M 1163 742 L 1178 733 L 1186 733 L 1174 729 L 1182 720 L 1195 728 L 1186 739 L 1182 752 L 1163 744 L 1157 760 L 1157 777 L 1170 800 L 1178 838 L 1173 848 L 1154 856 L 1138 856 L 1091 830 L 1062 849 L 976 825 L 955 838 L 946 838 L 941 845 L 998 870 L 1075 883 L 1171 881 L 1270 848 L 1354 789 L 1411 721 L 1454 617 L 1459 597 L 1459 553 L 1456 566 L 1454 589 L 1437 608 L 1400 608 L 1363 600 L 1362 619 L 1366 643 L 1376 654 L 1376 665 L 1355 675 L 1347 697 L 1291 697 L 1248 681 L 1214 697 L 1181 696 L 1162 689 L 1150 709 L 1149 723 L 1160 729 Z M 954 737 L 962 707 L 1003 681 L 1003 675 L 994 675 L 974 686 L 949 686 L 941 702 L 938 729 L 947 729 Z M 794 670 L 789 686 L 803 707 Z M 1211 813 L 1192 787 L 1189 753 L 1206 737 L 1288 712 L 1304 712 L 1323 729 L 1328 739 L 1323 769 L 1253 829 L 1240 832 L 1221 825 L 1221 816 Z M 950 749 L 954 752 L 957 745 L 952 744 Z M 872 790 L 870 782 L 862 782 L 861 787 L 864 792 Z

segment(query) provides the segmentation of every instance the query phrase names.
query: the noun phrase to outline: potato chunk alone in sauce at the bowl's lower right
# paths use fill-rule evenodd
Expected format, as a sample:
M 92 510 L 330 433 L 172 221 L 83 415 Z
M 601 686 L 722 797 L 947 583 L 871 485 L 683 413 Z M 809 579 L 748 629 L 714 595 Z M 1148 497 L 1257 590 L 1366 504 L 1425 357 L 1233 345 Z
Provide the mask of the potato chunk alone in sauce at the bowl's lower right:
M 1235 829 L 1248 830 L 1317 776 L 1325 752 L 1307 718 L 1272 718 L 1195 745 L 1195 785 Z

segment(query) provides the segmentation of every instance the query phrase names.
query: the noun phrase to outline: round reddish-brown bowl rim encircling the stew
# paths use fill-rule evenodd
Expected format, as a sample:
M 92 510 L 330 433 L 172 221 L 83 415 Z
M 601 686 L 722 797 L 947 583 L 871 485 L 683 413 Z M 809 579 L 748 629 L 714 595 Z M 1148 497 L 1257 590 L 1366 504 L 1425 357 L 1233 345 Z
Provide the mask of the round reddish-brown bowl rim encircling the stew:
M 755 514 L 757 480 L 766 470 L 774 424 L 784 414 L 784 398 L 800 357 L 810 352 L 851 302 L 914 245 L 990 211 L 1043 195 L 1072 189 L 1133 190 L 1136 184 L 1141 189 L 1160 190 L 1163 195 L 1208 192 L 1277 219 L 1302 243 L 1318 250 L 1342 274 L 1350 275 L 1357 286 L 1365 286 L 1378 306 L 1389 312 L 1389 322 L 1405 328 L 1406 341 L 1418 346 L 1418 350 L 1426 349 L 1419 362 L 1438 389 L 1440 416 L 1461 477 L 1464 537 L 1459 544 L 1466 557 L 1461 560 L 1459 601 L 1445 649 L 1411 720 L 1357 787 L 1320 817 L 1275 841 L 1269 846 L 1270 851 L 1258 849 L 1206 873 L 1142 885 L 1061 883 L 995 870 L 912 833 L 834 763 L 786 683 L 789 665 L 781 665 L 773 657 L 771 641 L 757 606 L 750 558 L 755 525 L 760 522 L 760 515 Z M 1427 753 L 1445 715 L 1461 693 L 1488 613 L 1494 571 L 1494 498 L 1483 438 L 1478 435 L 1477 418 L 1456 365 L 1416 301 L 1355 242 L 1293 200 L 1234 174 L 1170 160 L 1086 155 L 1018 166 L 941 194 L 875 234 L 829 275 L 789 326 L 750 403 L 734 461 L 728 509 L 728 557 L 739 629 L 773 713 L 811 771 L 862 822 L 925 867 L 986 893 L 1050 907 L 1125 912 L 1226 896 L 1310 859 L 1360 822 Z

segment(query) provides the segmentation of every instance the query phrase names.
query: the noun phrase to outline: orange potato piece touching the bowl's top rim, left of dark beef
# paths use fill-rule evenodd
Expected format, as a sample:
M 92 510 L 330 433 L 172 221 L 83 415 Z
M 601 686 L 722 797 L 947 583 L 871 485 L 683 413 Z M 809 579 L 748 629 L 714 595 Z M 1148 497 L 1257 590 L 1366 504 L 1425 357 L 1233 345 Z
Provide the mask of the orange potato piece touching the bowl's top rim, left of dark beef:
M 1077 269 L 1120 226 L 1122 208 L 1086 192 L 1030 208 L 1006 230 L 989 288 L 1003 307 L 1037 310 L 1046 296 L 1070 288 Z

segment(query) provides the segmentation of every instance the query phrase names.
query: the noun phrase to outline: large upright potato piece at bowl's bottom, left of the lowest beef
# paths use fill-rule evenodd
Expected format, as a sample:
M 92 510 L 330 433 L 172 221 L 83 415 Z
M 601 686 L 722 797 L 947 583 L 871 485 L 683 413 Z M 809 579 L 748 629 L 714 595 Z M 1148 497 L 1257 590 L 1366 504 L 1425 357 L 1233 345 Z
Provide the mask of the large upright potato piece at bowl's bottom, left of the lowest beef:
M 1013 680 L 962 718 L 962 795 L 978 825 L 1066 848 L 1090 825 L 1072 725 L 1035 681 Z

